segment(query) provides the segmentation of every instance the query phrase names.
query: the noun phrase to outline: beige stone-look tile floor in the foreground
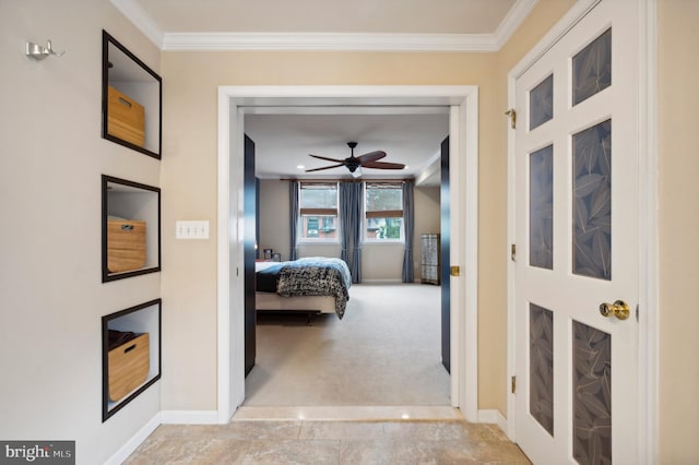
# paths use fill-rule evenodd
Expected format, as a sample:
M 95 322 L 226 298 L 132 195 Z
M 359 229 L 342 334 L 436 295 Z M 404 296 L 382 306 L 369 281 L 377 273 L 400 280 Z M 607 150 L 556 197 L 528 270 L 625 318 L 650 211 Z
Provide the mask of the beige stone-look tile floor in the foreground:
M 250 420 L 163 425 L 126 464 L 529 464 L 494 425 Z

